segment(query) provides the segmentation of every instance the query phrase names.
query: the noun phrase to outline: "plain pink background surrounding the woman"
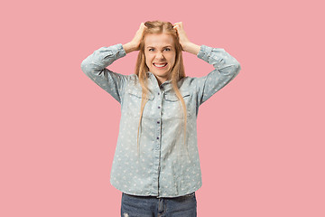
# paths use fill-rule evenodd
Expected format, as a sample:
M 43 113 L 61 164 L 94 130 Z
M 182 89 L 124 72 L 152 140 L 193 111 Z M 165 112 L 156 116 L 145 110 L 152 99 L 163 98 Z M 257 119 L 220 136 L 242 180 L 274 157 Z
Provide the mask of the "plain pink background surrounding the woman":
M 119 216 L 109 184 L 120 106 L 80 70 L 141 22 L 183 22 L 235 80 L 200 107 L 198 216 L 325 216 L 322 1 L 1 4 L 0 216 Z M 133 52 L 109 69 L 134 73 Z M 188 76 L 213 67 L 184 53 Z

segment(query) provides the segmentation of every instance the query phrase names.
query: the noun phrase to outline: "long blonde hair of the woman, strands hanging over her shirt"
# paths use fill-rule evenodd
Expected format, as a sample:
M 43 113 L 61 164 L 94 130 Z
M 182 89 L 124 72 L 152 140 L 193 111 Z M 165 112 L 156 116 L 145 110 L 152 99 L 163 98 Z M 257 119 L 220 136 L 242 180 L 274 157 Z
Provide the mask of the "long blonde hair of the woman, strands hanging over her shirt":
M 144 38 L 145 35 L 149 33 L 167 33 L 172 35 L 175 50 L 176 50 L 176 57 L 175 57 L 175 64 L 173 65 L 171 69 L 171 81 L 172 81 L 172 89 L 175 91 L 176 96 L 181 101 L 181 106 L 183 109 L 184 114 L 184 146 L 186 142 L 186 123 L 187 123 L 187 111 L 186 111 L 186 105 L 184 102 L 184 99 L 181 96 L 181 92 L 177 86 L 177 82 L 185 77 L 185 71 L 184 71 L 184 64 L 183 59 L 181 55 L 181 43 L 179 41 L 179 35 L 177 31 L 173 28 L 173 25 L 170 22 L 163 22 L 163 21 L 152 21 L 152 22 L 145 22 L 144 25 L 147 27 L 144 30 L 143 38 L 140 42 L 140 50 L 137 56 L 137 61 L 135 64 L 135 74 L 139 78 L 140 85 L 142 87 L 142 99 L 141 99 L 141 112 L 140 112 L 140 118 L 139 118 L 139 126 L 138 126 L 138 132 L 137 132 L 137 149 L 139 153 L 139 131 L 141 127 L 141 121 L 144 113 L 144 106 L 148 99 L 146 98 L 149 90 L 147 87 L 147 72 L 149 71 L 149 68 L 145 64 L 145 55 L 144 55 Z

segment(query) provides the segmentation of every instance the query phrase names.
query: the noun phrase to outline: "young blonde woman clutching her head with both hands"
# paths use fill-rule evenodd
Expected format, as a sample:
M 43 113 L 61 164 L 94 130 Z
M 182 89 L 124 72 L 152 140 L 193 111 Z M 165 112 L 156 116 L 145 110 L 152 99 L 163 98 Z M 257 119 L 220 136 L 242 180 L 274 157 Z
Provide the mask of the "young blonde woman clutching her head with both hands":
M 134 74 L 107 69 L 134 51 Z M 215 70 L 185 76 L 182 52 Z M 200 105 L 237 76 L 238 61 L 223 49 L 190 42 L 182 23 L 154 21 L 142 23 L 131 42 L 99 48 L 81 69 L 121 104 L 110 180 L 122 192 L 121 216 L 196 216 L 196 118 Z

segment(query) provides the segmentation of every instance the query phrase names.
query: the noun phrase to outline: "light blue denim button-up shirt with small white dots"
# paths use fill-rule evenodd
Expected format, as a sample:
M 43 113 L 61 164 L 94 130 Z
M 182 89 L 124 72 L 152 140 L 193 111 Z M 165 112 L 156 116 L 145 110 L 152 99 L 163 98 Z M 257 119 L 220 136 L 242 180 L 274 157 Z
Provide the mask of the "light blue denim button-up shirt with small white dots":
M 187 109 L 186 146 L 183 111 L 171 80 L 159 86 L 153 73 L 147 72 L 151 92 L 140 127 L 139 157 L 136 138 L 141 85 L 135 74 L 123 75 L 106 69 L 125 54 L 119 43 L 99 48 L 81 63 L 82 71 L 121 104 L 111 184 L 124 193 L 157 197 L 176 197 L 197 191 L 202 185 L 197 144 L 199 107 L 237 76 L 240 64 L 224 49 L 200 46 L 197 56 L 212 64 L 215 70 L 204 77 L 185 77 L 178 82 Z

